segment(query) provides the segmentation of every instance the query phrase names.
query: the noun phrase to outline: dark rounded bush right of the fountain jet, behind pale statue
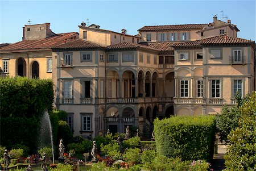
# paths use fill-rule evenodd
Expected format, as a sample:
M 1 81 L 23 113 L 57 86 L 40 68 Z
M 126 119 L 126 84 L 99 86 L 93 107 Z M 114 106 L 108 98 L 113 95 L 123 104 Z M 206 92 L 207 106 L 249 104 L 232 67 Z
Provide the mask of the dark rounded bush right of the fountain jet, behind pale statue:
M 65 147 L 67 147 L 67 145 L 73 141 L 73 133 L 71 128 L 69 127 L 68 123 L 63 120 L 59 120 L 57 140 L 60 141 L 60 139 L 63 139 L 63 144 Z

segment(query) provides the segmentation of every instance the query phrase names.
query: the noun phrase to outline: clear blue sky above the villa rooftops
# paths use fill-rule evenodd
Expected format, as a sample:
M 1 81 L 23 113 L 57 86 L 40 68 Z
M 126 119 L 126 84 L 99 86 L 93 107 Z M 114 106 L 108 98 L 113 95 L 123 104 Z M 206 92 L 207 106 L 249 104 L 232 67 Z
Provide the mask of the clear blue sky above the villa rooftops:
M 3 1 L 0 0 L 0 43 L 22 40 L 22 27 L 51 23 L 55 33 L 79 32 L 82 21 L 102 29 L 135 35 L 143 26 L 210 23 L 228 16 L 238 37 L 255 40 L 255 1 Z

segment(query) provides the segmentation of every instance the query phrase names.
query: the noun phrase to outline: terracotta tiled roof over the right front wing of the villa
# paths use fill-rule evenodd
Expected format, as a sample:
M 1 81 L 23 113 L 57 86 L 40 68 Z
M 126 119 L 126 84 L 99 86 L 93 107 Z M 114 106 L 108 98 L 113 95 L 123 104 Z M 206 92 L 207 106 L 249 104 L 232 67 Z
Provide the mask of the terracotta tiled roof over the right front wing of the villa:
M 230 36 L 214 36 L 206 39 L 195 40 L 195 41 L 184 41 L 180 43 L 173 44 L 173 47 L 200 47 L 204 44 L 247 44 L 247 43 L 255 43 L 255 41 L 241 39 L 238 37 L 230 37 Z

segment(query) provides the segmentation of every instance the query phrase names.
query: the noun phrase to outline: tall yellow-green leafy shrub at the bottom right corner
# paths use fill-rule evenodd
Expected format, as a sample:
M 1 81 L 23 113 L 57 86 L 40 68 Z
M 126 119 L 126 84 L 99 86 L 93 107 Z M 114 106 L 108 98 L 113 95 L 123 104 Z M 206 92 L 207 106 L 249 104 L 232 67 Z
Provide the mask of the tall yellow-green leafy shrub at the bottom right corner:
M 226 170 L 256 170 L 256 91 L 246 95 L 236 130 L 228 136 Z

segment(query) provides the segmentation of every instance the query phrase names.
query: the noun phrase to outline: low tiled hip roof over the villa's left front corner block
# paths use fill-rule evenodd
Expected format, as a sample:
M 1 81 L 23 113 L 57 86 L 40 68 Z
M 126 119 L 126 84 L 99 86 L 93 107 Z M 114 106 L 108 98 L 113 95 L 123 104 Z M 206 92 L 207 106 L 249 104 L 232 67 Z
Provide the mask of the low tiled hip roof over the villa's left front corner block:
M 52 47 L 52 49 L 67 49 L 67 48 L 100 48 L 101 45 L 85 41 L 81 39 L 67 41 L 66 43 Z

